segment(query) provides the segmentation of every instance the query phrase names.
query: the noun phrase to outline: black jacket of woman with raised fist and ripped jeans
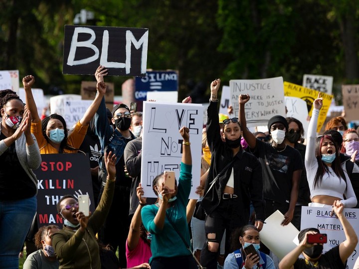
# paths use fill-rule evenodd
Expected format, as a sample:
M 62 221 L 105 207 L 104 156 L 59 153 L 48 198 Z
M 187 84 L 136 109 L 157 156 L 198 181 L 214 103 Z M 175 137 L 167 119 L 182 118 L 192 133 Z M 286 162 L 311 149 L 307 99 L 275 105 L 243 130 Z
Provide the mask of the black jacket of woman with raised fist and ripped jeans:
M 209 183 L 233 158 L 232 149 L 220 137 L 217 103 L 210 101 L 207 109 L 207 142 L 212 156 L 208 178 L 205 183 L 204 193 L 206 195 L 202 200 L 202 207 L 207 215 L 216 209 L 222 199 L 223 190 L 233 167 L 234 194 L 238 197 L 234 199 L 232 224 L 238 226 L 248 223 L 250 201 L 252 201 L 256 212 L 256 220 L 264 221 L 265 202 L 263 199 L 262 167 L 258 159 L 249 152 L 240 150 L 234 156 L 236 159 L 232 165 L 222 173 L 215 185 L 207 193 Z

